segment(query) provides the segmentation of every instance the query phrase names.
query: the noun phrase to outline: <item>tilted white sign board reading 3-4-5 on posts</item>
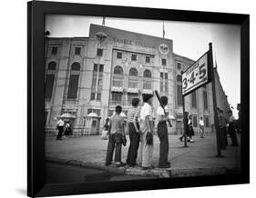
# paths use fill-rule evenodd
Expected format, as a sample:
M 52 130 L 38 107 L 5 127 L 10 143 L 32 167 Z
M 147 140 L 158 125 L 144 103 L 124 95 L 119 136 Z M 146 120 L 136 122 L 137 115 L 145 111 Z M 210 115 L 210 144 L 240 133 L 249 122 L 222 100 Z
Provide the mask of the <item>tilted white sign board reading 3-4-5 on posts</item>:
M 208 52 L 182 73 L 182 95 L 191 93 L 210 80 Z

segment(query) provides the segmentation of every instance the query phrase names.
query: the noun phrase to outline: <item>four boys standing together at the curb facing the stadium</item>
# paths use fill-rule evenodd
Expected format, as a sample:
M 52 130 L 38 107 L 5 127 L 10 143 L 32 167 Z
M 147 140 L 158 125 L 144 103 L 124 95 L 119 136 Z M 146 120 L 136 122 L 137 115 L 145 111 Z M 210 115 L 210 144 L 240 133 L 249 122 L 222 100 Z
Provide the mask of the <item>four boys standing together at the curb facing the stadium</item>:
M 134 167 L 138 165 L 138 147 L 141 147 L 141 165 L 143 170 L 153 168 L 151 159 L 154 148 L 153 141 L 153 107 L 152 107 L 153 94 L 143 94 L 142 107 L 139 107 L 140 100 L 134 98 L 132 100 L 132 107 L 128 109 L 127 124 L 124 122 L 124 117 L 120 114 L 122 107 L 116 106 L 116 113 L 111 116 L 108 124 L 108 149 L 106 156 L 106 165 L 112 163 L 113 153 L 115 150 L 115 164 L 117 167 L 128 165 Z M 160 98 L 163 109 L 161 106 L 157 109 L 158 116 L 158 136 L 159 136 L 159 168 L 169 168 L 168 161 L 169 155 L 169 137 L 167 121 L 169 120 L 168 111 L 168 97 L 162 96 Z M 121 148 L 126 144 L 125 130 L 128 130 L 130 144 L 128 146 L 128 155 L 126 163 L 121 161 Z

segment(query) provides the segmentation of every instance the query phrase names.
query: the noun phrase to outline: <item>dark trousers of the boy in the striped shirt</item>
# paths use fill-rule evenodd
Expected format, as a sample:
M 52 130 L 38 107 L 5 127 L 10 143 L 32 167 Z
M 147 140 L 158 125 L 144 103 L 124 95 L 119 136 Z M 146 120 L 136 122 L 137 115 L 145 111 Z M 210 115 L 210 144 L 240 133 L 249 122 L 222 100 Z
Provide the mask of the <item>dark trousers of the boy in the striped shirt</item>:
M 138 145 L 139 145 L 139 134 L 136 132 L 133 123 L 128 124 L 128 134 L 130 144 L 128 147 L 128 158 L 127 163 L 129 166 L 134 166 L 136 164 Z

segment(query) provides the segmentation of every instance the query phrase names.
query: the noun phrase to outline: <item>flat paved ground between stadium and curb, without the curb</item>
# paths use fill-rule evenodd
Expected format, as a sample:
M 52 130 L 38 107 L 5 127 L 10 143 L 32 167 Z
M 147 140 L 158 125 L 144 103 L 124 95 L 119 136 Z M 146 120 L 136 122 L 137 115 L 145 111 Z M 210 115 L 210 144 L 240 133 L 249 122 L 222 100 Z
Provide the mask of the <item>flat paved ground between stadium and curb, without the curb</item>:
M 128 138 L 127 138 L 128 139 Z M 240 139 L 240 135 L 239 135 Z M 56 141 L 56 137 L 46 137 L 46 157 L 76 160 L 83 163 L 104 165 L 107 153 L 108 140 L 102 140 L 98 135 L 87 135 L 79 137 L 66 137 L 63 141 Z M 128 141 L 129 144 L 129 141 Z M 122 161 L 126 162 L 128 153 L 127 146 L 122 146 Z M 230 138 L 229 138 L 230 144 Z M 206 134 L 205 138 L 194 136 L 194 143 L 179 141 L 179 135 L 169 135 L 169 161 L 172 169 L 214 168 L 214 167 L 236 167 L 240 163 L 240 146 L 228 146 L 227 150 L 221 151 L 223 158 L 216 157 L 215 134 Z M 140 149 L 138 149 L 138 163 L 141 162 Z M 154 135 L 153 165 L 159 162 L 159 137 Z

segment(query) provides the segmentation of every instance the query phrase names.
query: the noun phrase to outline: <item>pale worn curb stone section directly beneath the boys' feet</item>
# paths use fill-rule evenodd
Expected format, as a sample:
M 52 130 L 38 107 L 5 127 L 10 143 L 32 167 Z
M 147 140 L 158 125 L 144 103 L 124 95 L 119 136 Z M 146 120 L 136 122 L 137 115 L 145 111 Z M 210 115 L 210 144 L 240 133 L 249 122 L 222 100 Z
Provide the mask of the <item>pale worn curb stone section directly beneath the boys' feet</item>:
M 144 176 L 144 177 L 153 177 L 153 178 L 169 178 L 171 176 L 171 169 L 148 169 L 143 170 L 141 167 L 128 167 L 125 170 L 126 174 L 129 175 L 137 175 L 137 176 Z

